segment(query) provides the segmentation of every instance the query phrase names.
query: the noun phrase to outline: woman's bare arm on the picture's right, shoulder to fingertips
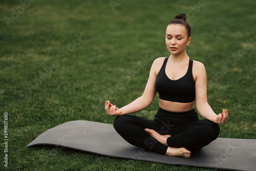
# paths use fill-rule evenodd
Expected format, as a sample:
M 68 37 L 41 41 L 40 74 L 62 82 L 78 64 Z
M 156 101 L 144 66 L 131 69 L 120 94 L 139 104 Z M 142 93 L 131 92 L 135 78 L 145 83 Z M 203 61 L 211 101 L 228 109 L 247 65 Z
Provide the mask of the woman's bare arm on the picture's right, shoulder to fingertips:
M 227 110 L 223 109 L 222 113 L 216 115 L 207 101 L 207 76 L 203 63 L 195 61 L 193 72 L 196 76 L 196 105 L 199 114 L 215 123 L 226 123 L 228 120 Z M 193 75 L 194 75 L 193 73 Z

